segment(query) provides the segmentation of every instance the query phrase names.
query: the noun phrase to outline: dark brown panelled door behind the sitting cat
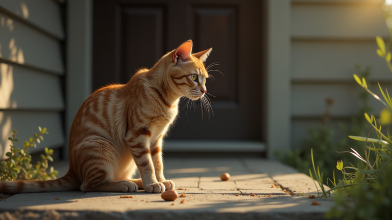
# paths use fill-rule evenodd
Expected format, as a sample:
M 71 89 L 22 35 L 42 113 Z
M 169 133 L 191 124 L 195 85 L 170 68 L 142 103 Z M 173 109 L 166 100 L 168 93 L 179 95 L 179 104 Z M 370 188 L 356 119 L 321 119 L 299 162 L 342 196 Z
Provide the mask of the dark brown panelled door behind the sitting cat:
M 212 47 L 207 92 L 213 114 L 184 99 L 169 140 L 264 141 L 264 3 L 256 0 L 95 0 L 93 87 L 125 84 L 188 39 Z

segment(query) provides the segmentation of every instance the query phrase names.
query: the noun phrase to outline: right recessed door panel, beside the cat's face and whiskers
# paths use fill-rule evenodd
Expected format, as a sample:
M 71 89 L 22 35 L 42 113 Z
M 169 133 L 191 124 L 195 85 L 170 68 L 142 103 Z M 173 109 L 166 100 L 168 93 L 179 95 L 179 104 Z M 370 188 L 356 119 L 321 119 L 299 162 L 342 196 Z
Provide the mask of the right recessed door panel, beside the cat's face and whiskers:
M 207 64 L 219 64 L 219 66 L 210 68 L 209 73 L 214 75 L 214 77 L 216 76 L 215 79 L 217 79 L 213 81 L 213 84 L 210 84 L 213 86 L 208 87 L 208 92 L 216 96 L 213 98 L 215 102 L 237 104 L 238 81 L 236 80 L 235 62 L 237 60 L 236 9 L 234 7 L 195 7 L 193 15 L 193 41 L 197 45 L 195 51 L 205 50 L 203 48 L 209 48 L 214 45 L 212 52 L 214 56 L 208 59 Z

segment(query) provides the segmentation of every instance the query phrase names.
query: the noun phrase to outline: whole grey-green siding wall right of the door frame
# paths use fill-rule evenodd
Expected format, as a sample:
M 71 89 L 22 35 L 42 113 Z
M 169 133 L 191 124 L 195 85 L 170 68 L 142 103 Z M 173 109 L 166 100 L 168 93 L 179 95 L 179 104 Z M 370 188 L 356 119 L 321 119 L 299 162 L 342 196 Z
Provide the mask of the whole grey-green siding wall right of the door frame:
M 353 79 L 355 65 L 372 66 L 370 80 L 390 88 L 392 73 L 376 54 L 377 35 L 389 39 L 384 1 L 291 1 L 291 147 L 300 148 L 308 129 L 320 124 L 325 98 L 335 100 L 331 128 L 348 123 L 358 113 L 360 87 Z M 382 105 L 372 99 L 374 113 Z M 353 134 L 355 135 L 355 134 Z

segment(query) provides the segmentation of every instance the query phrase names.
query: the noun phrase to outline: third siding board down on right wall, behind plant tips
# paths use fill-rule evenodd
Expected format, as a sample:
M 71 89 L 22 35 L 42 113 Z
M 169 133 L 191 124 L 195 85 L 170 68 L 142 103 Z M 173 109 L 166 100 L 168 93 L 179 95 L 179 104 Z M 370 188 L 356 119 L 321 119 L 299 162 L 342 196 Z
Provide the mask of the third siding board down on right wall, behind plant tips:
M 354 81 L 354 79 L 353 79 Z M 390 84 L 381 84 L 382 88 L 392 91 Z M 334 104 L 331 106 L 330 113 L 333 117 L 349 117 L 358 113 L 361 106 L 358 98 L 362 88 L 353 82 L 352 84 L 293 84 L 291 92 L 291 113 L 293 118 L 314 118 L 322 116 L 325 112 L 325 99 L 331 97 Z M 381 93 L 376 84 L 371 89 L 381 98 Z M 371 105 L 374 112 L 379 113 L 384 105 L 371 97 Z

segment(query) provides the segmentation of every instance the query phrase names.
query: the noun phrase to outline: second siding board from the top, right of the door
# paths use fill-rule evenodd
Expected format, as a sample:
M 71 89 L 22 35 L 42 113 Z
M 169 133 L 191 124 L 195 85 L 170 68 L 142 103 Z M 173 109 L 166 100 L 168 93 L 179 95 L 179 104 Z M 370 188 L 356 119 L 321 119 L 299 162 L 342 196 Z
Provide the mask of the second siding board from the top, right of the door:
M 292 41 L 293 80 L 352 80 L 355 65 L 371 66 L 371 79 L 388 80 L 392 73 L 372 41 Z

